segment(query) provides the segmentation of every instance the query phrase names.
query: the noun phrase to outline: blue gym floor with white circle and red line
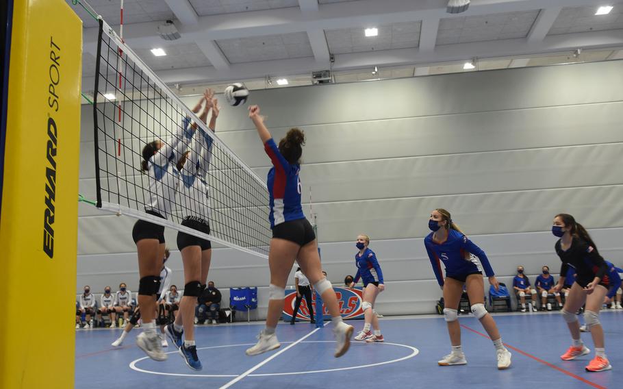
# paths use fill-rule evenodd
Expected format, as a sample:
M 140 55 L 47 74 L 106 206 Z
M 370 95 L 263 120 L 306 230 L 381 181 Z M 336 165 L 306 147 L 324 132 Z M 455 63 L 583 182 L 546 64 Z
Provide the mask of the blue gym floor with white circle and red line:
M 203 325 L 196 327 L 203 364 L 199 372 L 190 371 L 170 345 L 166 362 L 149 360 L 134 344 L 140 328 L 119 348 L 110 343 L 120 329 L 81 329 L 76 331 L 75 388 L 623 387 L 623 311 L 600 314 L 613 366 L 602 373 L 584 370 L 593 352 L 576 361 L 560 360 L 570 336 L 559 313 L 495 314 L 494 318 L 513 353 L 513 364 L 506 371 L 496 368 L 492 342 L 483 337 L 483 328 L 472 316 L 459 319 L 468 360 L 465 366 L 437 366 L 437 360 L 450 351 L 442 316 L 381 318 L 384 344 L 353 341 L 351 350 L 338 359 L 333 357 L 330 324 L 314 331 L 309 323 L 280 323 L 281 348 L 255 357 L 247 357 L 244 350 L 255 344 L 260 323 Z M 348 323 L 355 331 L 364 324 Z M 593 350 L 590 334 L 583 333 L 582 338 Z

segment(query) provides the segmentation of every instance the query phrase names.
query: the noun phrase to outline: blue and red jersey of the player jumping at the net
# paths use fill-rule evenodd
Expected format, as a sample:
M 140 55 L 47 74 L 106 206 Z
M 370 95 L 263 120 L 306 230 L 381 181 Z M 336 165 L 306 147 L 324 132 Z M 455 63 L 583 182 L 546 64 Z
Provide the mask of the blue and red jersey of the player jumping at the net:
M 264 144 L 264 150 L 272 161 L 268 171 L 268 194 L 270 194 L 270 228 L 286 221 L 305 218 L 301 207 L 301 179 L 298 171 L 301 166 L 290 164 L 279 152 L 275 140 L 270 138 Z

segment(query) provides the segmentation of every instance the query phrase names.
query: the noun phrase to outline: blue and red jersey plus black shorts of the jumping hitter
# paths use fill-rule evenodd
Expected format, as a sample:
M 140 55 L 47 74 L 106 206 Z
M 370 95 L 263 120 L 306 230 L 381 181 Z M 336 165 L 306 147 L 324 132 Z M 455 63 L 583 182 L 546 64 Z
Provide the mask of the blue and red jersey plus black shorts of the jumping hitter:
M 270 196 L 268 220 L 272 237 L 304 246 L 316 239 L 316 234 L 301 206 L 301 179 L 298 177 L 301 166 L 285 160 L 272 138 L 266 140 L 264 151 L 272 162 L 266 180 Z

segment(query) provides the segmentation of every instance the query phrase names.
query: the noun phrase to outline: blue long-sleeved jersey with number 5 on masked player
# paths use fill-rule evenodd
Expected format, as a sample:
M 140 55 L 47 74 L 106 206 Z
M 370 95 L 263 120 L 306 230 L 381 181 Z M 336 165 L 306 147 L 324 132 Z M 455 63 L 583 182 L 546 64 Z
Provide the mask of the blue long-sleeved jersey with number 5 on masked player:
M 479 258 L 487 277 L 495 275 L 485 252 L 469 240 L 467 236 L 455 229 L 448 230 L 448 238 L 442 243 L 434 242 L 433 233 L 431 232 L 424 238 L 424 247 L 426 247 L 426 251 L 429 254 L 435 277 L 437 277 L 437 282 L 440 286 L 444 285 L 441 262 L 444 262 L 444 266 L 446 266 L 446 277 L 461 277 L 482 271 L 478 260 L 470 254 L 474 254 Z

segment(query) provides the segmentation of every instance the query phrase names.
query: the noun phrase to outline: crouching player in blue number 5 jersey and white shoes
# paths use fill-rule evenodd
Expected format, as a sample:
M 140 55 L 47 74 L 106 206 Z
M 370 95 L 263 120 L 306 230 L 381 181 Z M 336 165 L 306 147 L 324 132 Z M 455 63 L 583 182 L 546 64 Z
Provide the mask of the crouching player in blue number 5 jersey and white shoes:
M 450 212 L 442 208 L 437 208 L 431 212 L 429 228 L 433 232 L 424 238 L 424 246 L 433 265 L 437 282 L 444 291 L 444 318 L 448 325 L 448 333 L 452 343 L 452 352 L 437 364 L 450 366 L 467 363 L 461 348 L 461 327 L 457 312 L 464 285 L 472 303 L 472 314 L 479 319 L 496 347 L 498 369 L 508 368 L 511 366 L 511 353 L 504 347 L 498 326 L 485 309 L 485 286 L 482 268 L 476 258 L 472 256 L 474 254 L 481 260 L 485 273 L 489 277 L 489 284 L 492 284 L 497 290 L 498 280 L 491 265 L 489 265 L 487 255 L 463 234 L 459 226 L 452 221 Z M 444 262 L 444 266 L 446 266 L 445 281 L 441 262 Z

